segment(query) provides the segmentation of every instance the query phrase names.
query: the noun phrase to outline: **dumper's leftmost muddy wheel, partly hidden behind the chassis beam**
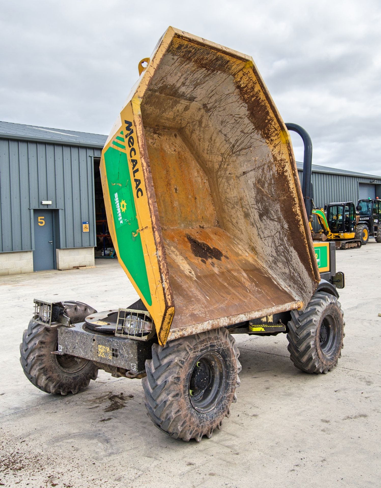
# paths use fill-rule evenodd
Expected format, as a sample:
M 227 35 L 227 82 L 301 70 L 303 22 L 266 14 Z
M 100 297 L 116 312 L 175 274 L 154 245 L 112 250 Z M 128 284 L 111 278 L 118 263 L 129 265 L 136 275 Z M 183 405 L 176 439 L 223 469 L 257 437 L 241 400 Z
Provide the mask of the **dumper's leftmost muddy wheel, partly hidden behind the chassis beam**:
M 57 350 L 58 331 L 29 322 L 20 344 L 20 362 L 25 376 L 45 393 L 67 395 L 78 393 L 90 380 L 96 380 L 98 368 L 87 359 L 67 354 L 52 354 Z

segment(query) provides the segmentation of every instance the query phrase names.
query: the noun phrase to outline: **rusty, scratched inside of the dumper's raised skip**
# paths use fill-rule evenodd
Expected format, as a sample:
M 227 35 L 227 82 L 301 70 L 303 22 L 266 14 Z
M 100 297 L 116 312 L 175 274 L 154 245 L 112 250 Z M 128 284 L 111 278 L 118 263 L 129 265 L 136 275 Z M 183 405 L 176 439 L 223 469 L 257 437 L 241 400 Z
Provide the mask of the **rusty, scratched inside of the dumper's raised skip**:
M 174 37 L 141 112 L 172 336 L 295 308 L 312 294 L 293 152 L 253 64 Z

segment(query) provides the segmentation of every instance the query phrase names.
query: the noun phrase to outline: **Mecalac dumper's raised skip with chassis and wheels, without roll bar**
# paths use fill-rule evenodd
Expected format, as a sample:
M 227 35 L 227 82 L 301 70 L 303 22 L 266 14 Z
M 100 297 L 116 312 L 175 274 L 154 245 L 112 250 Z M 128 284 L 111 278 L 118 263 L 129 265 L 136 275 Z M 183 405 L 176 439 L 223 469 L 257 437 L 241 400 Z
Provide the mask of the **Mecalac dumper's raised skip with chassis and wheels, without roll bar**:
M 153 423 L 200 441 L 236 400 L 234 333 L 285 332 L 296 367 L 327 373 L 343 314 L 252 58 L 169 27 L 143 61 L 101 159 L 112 241 L 139 300 L 106 312 L 35 300 L 21 365 L 62 395 L 98 368 L 143 378 Z

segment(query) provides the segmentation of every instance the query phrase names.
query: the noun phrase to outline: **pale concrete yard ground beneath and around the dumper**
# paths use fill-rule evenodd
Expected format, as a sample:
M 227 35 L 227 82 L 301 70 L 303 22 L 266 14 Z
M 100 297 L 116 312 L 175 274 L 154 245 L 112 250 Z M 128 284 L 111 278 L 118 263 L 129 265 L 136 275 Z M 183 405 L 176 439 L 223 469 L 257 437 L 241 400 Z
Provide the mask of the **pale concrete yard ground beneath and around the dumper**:
M 235 336 L 238 402 L 212 439 L 176 441 L 148 420 L 140 380 L 100 372 L 77 395 L 43 393 L 19 363 L 33 298 L 98 310 L 136 297 L 113 260 L 0 281 L 0 486 L 379 487 L 381 244 L 337 252 L 345 348 L 327 375 L 297 370 L 284 334 Z M 123 395 L 122 395 L 123 394 Z

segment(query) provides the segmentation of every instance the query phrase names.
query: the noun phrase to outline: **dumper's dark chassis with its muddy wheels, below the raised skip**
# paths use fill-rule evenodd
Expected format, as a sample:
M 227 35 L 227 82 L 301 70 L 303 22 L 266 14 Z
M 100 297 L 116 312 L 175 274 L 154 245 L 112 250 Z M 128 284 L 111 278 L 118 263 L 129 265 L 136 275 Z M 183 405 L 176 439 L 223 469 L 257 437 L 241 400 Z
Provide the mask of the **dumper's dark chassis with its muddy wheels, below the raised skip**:
M 241 365 L 233 334 L 287 333 L 290 358 L 298 369 L 327 373 L 337 366 L 345 323 L 335 295 L 336 290 L 323 280 L 303 312 L 279 314 L 272 322 L 264 317 L 205 331 L 175 339 L 165 347 L 154 337 L 138 341 L 115 336 L 121 321 L 113 320 L 120 311 L 97 314 L 82 303 L 68 306 L 68 302 L 35 300 L 36 313 L 20 345 L 21 366 L 33 385 L 61 395 L 88 386 L 97 378 L 98 369 L 114 377 L 143 378 L 148 416 L 154 425 L 174 438 L 199 442 L 221 427 L 237 399 Z M 144 313 L 134 311 L 134 306 L 142 307 L 141 301 L 129 308 L 132 317 Z M 81 317 L 78 308 L 92 312 Z M 95 328 L 94 322 L 101 325 Z

